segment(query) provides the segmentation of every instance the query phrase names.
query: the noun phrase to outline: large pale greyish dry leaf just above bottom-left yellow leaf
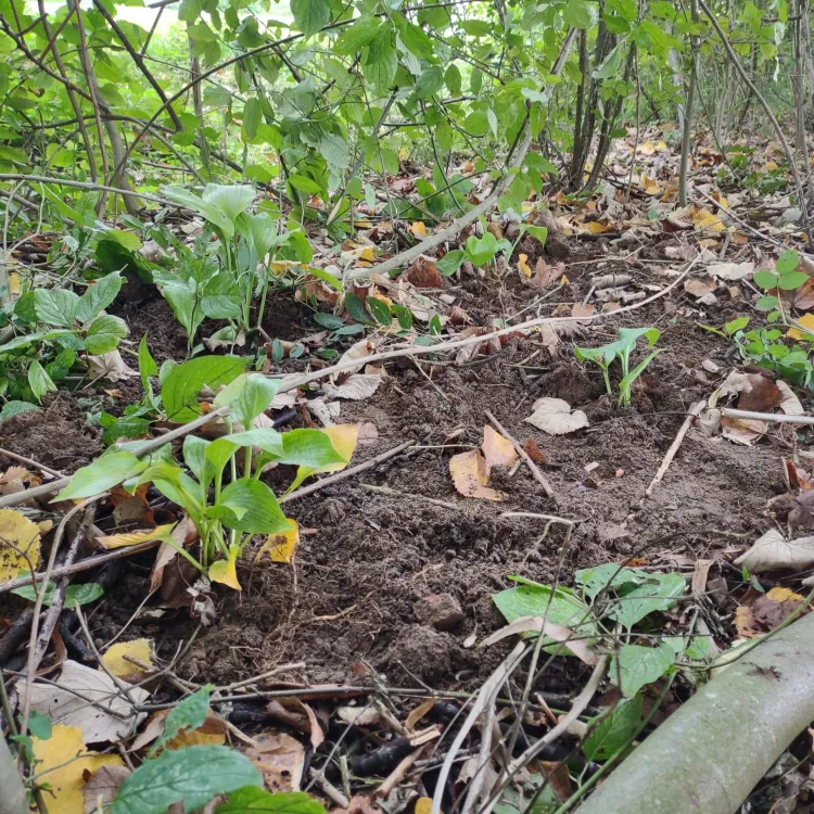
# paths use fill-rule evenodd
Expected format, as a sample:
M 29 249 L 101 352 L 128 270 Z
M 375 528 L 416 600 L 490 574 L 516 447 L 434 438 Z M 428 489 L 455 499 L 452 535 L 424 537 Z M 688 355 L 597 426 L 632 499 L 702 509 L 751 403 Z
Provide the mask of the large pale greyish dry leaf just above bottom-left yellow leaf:
M 29 696 L 30 707 L 48 715 L 54 724 L 78 728 L 85 743 L 126 739 L 147 716 L 147 713 L 133 711 L 130 701 L 123 697 L 106 673 L 76 661 L 64 662 L 59 684 L 55 687 L 35 682 Z M 21 697 L 25 698 L 26 692 L 25 683 L 21 683 Z M 150 697 L 141 687 L 130 687 L 128 692 L 137 704 Z M 88 700 L 93 702 L 92 705 Z

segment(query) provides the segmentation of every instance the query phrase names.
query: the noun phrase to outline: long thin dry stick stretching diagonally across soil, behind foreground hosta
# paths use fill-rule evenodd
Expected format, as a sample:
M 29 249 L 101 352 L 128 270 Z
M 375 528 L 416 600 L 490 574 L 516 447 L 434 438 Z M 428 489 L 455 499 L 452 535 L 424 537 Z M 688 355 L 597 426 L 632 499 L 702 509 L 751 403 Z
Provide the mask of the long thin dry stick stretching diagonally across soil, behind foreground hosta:
M 0 180 L 2 180 L 3 175 L 0 174 Z M 53 179 L 46 179 L 46 180 L 53 180 Z M 114 190 L 118 191 L 118 190 Z M 613 311 L 601 311 L 593 317 L 593 319 L 602 319 L 609 316 L 616 317 L 620 314 L 626 314 L 633 310 L 636 310 L 637 308 L 641 308 L 645 305 L 649 305 L 650 303 L 656 302 L 657 300 L 660 300 L 667 293 L 670 293 L 678 283 L 689 274 L 689 271 L 692 269 L 692 267 L 698 262 L 698 257 L 695 257 L 691 259 L 687 266 L 684 268 L 684 270 L 671 282 L 669 285 L 663 288 L 661 291 L 657 292 L 656 294 L 652 294 L 649 297 L 646 297 L 645 300 L 639 300 L 637 303 L 633 303 L 632 305 L 625 305 L 622 308 L 618 308 Z M 497 331 L 491 331 L 489 333 L 484 333 L 480 336 L 467 336 L 466 339 L 460 340 L 449 340 L 447 342 L 440 342 L 436 345 L 408 345 L 406 347 L 398 348 L 396 351 L 385 351 L 383 353 L 379 354 L 371 354 L 370 356 L 365 357 L 365 363 L 373 363 L 373 361 L 383 361 L 385 359 L 396 359 L 404 356 L 418 356 L 421 354 L 435 354 L 435 353 L 442 353 L 446 351 L 456 351 L 459 347 L 469 347 L 470 345 L 476 345 L 482 342 L 488 342 L 491 339 L 495 339 L 497 336 L 506 336 L 508 334 L 517 334 L 521 331 L 525 331 L 532 328 L 536 328 L 538 326 L 543 325 L 564 325 L 570 322 L 577 322 L 581 321 L 583 317 L 537 317 L 536 319 L 530 319 L 525 322 L 520 322 L 516 326 L 510 326 L 508 328 L 501 328 Z M 358 367 L 359 361 L 358 359 L 346 359 L 345 361 L 340 361 L 336 365 L 333 365 L 330 368 L 323 368 L 322 370 L 318 370 L 311 373 L 304 373 L 301 377 L 297 377 L 296 379 L 283 384 L 279 393 L 288 393 L 292 390 L 297 390 L 298 387 L 302 387 L 304 384 L 309 384 L 310 382 L 318 381 L 319 379 L 325 379 L 328 376 L 332 376 L 333 373 L 338 373 L 342 370 L 347 370 L 348 368 L 355 368 Z M 183 424 L 182 427 L 179 427 L 175 430 L 171 430 L 168 433 L 165 433 L 164 435 L 158 436 L 157 438 L 151 438 L 150 441 L 145 441 L 140 446 L 136 447 L 132 451 L 132 454 L 136 457 L 141 457 L 142 455 L 147 455 L 148 453 L 152 451 L 153 449 L 157 449 L 160 446 L 163 446 L 164 444 L 168 444 L 171 441 L 176 441 L 177 438 L 183 437 L 185 435 L 188 435 L 190 432 L 193 432 L 194 430 L 198 430 L 200 427 L 203 427 L 204 424 L 208 423 L 209 421 L 213 421 L 216 418 L 222 418 L 229 412 L 228 407 L 220 407 L 217 410 L 213 410 L 212 412 L 207 412 L 204 416 L 201 416 L 200 418 L 196 418 L 194 421 L 190 421 L 188 424 Z M 412 444 L 414 442 L 409 442 Z M 392 450 L 391 450 L 392 451 Z M 376 460 L 376 459 L 373 459 Z M 371 462 L 372 466 L 372 462 Z M 328 485 L 328 483 L 332 483 L 333 479 L 325 479 L 325 481 L 320 481 L 319 483 L 323 483 Z M 53 481 L 52 483 L 42 484 L 41 486 L 35 486 L 33 489 L 26 489 L 25 492 L 17 492 L 13 495 L 5 495 L 3 497 L 0 497 L 0 508 L 5 508 L 8 506 L 16 506 L 17 504 L 25 503 L 26 500 L 29 500 L 33 497 L 42 497 L 44 495 L 51 495 L 54 492 L 59 492 L 60 489 L 65 488 L 65 486 L 71 483 L 71 478 L 62 478 L 59 481 Z M 314 484 L 316 486 L 316 484 Z M 292 493 L 288 496 L 288 499 L 292 499 L 295 495 L 297 497 L 302 497 L 306 494 L 310 494 L 311 492 L 316 491 L 311 486 L 306 486 L 305 488 L 297 489 L 295 493 Z M 285 498 L 283 498 L 285 499 Z M 128 551 L 132 551 L 133 549 L 127 549 Z M 26 583 L 27 584 L 27 583 Z M 0 586 L 0 593 L 3 592 L 3 586 Z

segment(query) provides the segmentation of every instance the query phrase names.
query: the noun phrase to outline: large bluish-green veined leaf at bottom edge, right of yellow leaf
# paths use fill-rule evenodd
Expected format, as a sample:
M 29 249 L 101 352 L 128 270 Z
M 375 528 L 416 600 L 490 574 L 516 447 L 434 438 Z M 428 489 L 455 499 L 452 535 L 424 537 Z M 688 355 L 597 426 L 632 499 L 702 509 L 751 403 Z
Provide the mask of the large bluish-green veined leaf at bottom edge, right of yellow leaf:
M 122 784 L 111 814 L 164 814 L 183 802 L 189 813 L 215 794 L 263 786 L 263 776 L 244 754 L 228 747 L 194 746 L 167 750 L 142 763 Z

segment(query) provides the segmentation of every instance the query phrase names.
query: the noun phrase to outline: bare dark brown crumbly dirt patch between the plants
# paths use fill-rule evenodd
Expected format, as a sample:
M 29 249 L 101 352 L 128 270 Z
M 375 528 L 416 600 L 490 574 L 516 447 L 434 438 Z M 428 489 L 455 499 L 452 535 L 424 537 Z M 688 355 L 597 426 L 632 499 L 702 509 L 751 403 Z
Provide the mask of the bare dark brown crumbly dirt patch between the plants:
M 572 283 L 559 297 L 562 302 L 580 302 L 587 294 L 587 269 L 597 272 L 597 264 L 568 270 Z M 634 274 L 665 284 L 651 269 Z M 511 314 L 533 296 L 513 279 L 497 293 L 494 289 L 494 282 L 470 279 L 456 293 L 480 323 Z M 252 564 L 254 551 L 246 551 L 239 564 L 243 592 L 218 590 L 218 620 L 202 631 L 179 672 L 191 679 L 229 683 L 279 663 L 305 661 L 306 669 L 296 677 L 310 682 L 358 679 L 361 665 L 363 673 L 374 671 L 394 685 L 471 687 L 505 653 L 500 646 L 479 650 L 465 643 L 470 634 L 481 638 L 500 626 L 491 596 L 511 585 L 509 575 L 568 581 L 576 568 L 629 557 L 649 561 L 665 551 L 715 557 L 738 542 L 733 535 L 747 534 L 750 540 L 765 531 L 772 524 L 767 501 L 785 492 L 781 457 L 793 435 L 783 432 L 742 447 L 692 430 L 652 497 L 627 532 L 620 533 L 687 410 L 718 380 L 702 371 L 701 361 L 713 359 L 724 372 L 737 364 L 727 358 L 722 340 L 696 325 L 721 323 L 738 313 L 737 304 L 708 314 L 695 308 L 691 298 L 676 290 L 672 303 L 659 301 L 625 315 L 624 322 L 607 319 L 582 328 L 582 338 L 563 338 L 558 358 L 544 348 L 530 363 L 538 368 L 518 367 L 542 347 L 534 338 L 514 339 L 496 356 L 476 357 L 462 367 L 422 363 L 432 385 L 414 361 L 389 366 L 390 378 L 379 392 L 368 402 L 344 402 L 341 418 L 378 428 L 378 440 L 357 450 L 359 461 L 407 438 L 418 448 L 288 504 L 291 517 L 309 530 L 293 568 L 268 560 Z M 166 320 L 167 310 L 163 301 L 153 301 L 130 315 L 137 336 L 140 330 L 150 331 L 156 358 L 178 358 L 179 348 L 186 348 L 180 328 Z M 293 311 L 279 316 L 278 326 L 290 327 L 295 320 Z M 663 331 L 659 346 L 664 352 L 641 378 L 632 410 L 616 408 L 598 371 L 573 361 L 575 343 L 609 341 L 621 323 L 656 325 Z M 526 423 L 532 404 L 544 395 L 585 410 L 590 428 L 554 437 Z M 454 444 L 480 444 L 484 409 L 491 409 L 521 443 L 534 440 L 547 458 L 542 468 L 557 494 L 556 504 L 524 467 L 513 478 L 505 470 L 493 472 L 492 485 L 505 495 L 500 503 L 456 493 L 448 463 L 460 449 L 441 447 L 459 429 L 462 433 Z M 68 421 L 62 412 L 55 419 Z M 24 416 L 15 422 L 12 440 L 4 438 L 15 443 L 9 448 L 41 456 L 44 447 L 29 441 L 39 437 L 37 433 L 47 435 L 53 446 L 52 425 L 43 424 L 42 417 Z M 61 454 L 61 466 L 75 467 L 99 451 L 92 434 L 82 436 L 77 447 L 73 441 Z M 77 456 L 73 463 L 67 462 L 71 455 Z M 593 463 L 598 467 L 589 467 Z M 279 475 L 278 471 L 276 479 Z M 399 494 L 370 492 L 363 484 Z M 563 526 L 552 525 L 545 534 L 544 519 L 507 518 L 507 511 L 574 521 L 570 545 L 562 549 Z M 100 644 L 118 633 L 143 599 L 149 567 L 149 556 L 130 562 L 116 601 L 105 601 L 94 615 Z M 438 593 L 451 594 L 466 615 L 451 633 L 422 626 L 415 618 L 416 600 Z M 132 625 L 128 635 L 153 636 L 160 653 L 168 657 L 193 627 L 186 611 L 169 611 L 158 621 Z M 556 672 L 544 681 L 552 691 L 571 689 L 567 677 Z

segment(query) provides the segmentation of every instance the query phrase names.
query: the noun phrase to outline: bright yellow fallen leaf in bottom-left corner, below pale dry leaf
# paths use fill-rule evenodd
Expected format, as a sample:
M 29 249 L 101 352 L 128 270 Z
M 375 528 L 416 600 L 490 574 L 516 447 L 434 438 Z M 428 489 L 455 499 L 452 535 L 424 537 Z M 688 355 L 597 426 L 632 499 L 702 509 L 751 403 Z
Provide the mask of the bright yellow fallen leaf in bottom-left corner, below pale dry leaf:
M 85 814 L 86 773 L 93 775 L 102 766 L 125 765 L 117 754 L 86 751 L 81 729 L 75 726 L 55 724 L 48 740 L 31 738 L 31 741 L 37 781 L 49 785 L 50 790 L 44 792 L 48 810 L 59 814 Z

